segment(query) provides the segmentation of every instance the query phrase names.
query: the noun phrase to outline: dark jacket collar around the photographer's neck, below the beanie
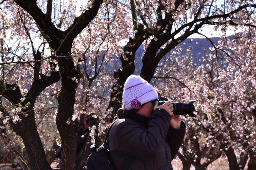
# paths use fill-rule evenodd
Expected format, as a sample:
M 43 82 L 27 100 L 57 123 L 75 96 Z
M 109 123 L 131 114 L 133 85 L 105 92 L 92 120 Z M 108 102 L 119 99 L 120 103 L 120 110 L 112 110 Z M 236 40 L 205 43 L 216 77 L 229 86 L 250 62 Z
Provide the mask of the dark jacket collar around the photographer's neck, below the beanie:
M 148 117 L 137 114 L 135 112 L 130 112 L 129 114 L 124 114 L 124 110 L 121 108 L 117 111 L 117 118 L 119 118 L 119 119 L 128 118 L 135 122 L 138 122 L 139 124 L 143 125 L 144 127 L 148 127 L 149 120 L 150 120 Z

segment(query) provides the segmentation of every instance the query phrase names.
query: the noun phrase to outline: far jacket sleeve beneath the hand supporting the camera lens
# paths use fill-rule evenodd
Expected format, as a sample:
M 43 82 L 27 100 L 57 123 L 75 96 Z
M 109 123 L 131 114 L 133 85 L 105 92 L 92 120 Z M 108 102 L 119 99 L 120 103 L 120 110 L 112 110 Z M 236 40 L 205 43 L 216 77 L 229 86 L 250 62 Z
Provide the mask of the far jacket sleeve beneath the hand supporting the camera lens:
M 180 123 L 180 129 L 175 129 L 169 125 L 167 132 L 167 141 L 171 150 L 171 160 L 174 159 L 177 154 L 180 145 L 185 137 L 186 125 L 183 121 Z

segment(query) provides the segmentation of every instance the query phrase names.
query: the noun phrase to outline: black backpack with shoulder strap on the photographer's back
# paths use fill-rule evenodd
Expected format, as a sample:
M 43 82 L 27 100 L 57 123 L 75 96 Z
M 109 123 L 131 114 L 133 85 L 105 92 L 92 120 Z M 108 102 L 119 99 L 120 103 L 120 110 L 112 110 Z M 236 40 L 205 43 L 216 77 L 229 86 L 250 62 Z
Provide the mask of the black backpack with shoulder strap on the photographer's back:
M 97 147 L 95 144 L 91 145 L 92 153 L 87 158 L 87 166 L 84 168 L 87 170 L 115 170 L 115 166 L 110 156 L 109 148 L 109 132 L 113 124 L 119 119 L 113 121 L 110 128 L 107 130 L 104 142 L 100 147 Z M 128 169 L 129 164 L 127 163 L 124 169 Z

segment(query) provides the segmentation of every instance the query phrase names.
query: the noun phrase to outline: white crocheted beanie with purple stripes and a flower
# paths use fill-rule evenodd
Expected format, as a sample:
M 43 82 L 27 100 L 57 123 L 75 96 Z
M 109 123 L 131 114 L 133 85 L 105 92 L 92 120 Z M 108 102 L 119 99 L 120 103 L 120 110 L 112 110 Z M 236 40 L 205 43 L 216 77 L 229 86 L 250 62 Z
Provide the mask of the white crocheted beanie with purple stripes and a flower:
M 131 75 L 124 83 L 123 109 L 140 109 L 141 105 L 158 98 L 156 89 L 141 76 Z

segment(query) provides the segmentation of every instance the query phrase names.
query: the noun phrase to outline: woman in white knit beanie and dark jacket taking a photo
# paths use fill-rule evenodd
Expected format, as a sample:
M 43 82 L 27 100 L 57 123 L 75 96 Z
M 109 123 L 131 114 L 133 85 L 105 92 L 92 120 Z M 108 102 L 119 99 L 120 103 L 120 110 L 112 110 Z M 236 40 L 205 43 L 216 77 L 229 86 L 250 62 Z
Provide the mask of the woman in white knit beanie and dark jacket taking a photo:
M 171 101 L 153 107 L 152 85 L 131 75 L 124 84 L 123 105 L 110 130 L 110 154 L 117 170 L 172 170 L 171 160 L 185 135 L 185 124 L 174 115 Z

